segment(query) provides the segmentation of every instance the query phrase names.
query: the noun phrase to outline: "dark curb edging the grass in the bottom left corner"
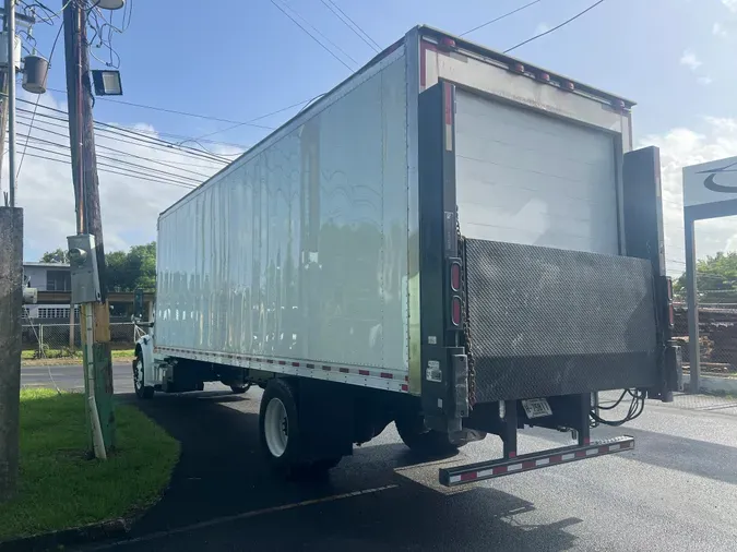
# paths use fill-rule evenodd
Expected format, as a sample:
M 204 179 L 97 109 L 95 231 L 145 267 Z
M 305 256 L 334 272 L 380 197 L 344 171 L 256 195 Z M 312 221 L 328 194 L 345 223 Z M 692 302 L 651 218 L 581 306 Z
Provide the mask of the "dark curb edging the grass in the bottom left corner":
M 84 544 L 115 537 L 123 537 L 130 531 L 129 521 L 122 518 L 85 525 L 72 529 L 44 532 L 14 540 L 0 541 L 2 552 L 36 552 L 75 544 Z

